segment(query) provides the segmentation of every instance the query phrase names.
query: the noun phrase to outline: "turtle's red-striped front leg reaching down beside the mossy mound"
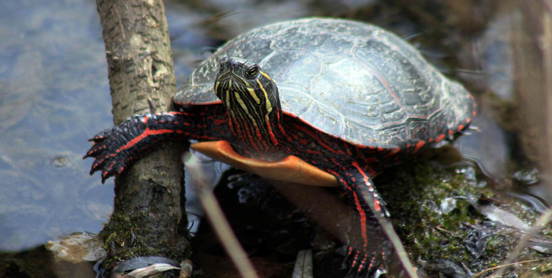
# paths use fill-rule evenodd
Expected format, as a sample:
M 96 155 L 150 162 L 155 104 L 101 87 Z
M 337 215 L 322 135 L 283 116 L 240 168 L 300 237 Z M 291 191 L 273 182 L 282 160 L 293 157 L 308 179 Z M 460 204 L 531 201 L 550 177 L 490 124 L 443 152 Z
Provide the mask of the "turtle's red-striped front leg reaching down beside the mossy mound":
M 392 250 L 391 242 L 380 225 L 387 214 L 383 200 L 362 168 L 333 174 L 347 192 L 349 211 L 353 214 L 346 257 L 348 277 L 368 276 L 378 268 L 386 267 Z

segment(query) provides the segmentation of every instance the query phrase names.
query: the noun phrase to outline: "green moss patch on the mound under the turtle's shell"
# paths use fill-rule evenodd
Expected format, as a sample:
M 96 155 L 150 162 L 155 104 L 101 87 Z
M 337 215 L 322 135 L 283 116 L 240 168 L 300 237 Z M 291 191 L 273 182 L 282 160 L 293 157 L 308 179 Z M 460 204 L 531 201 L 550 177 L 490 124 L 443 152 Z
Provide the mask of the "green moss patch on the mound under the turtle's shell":
M 376 179 L 375 183 L 388 203 L 391 219 L 411 259 L 450 260 L 465 265 L 473 273 L 503 263 L 516 247 L 519 233 L 492 224 L 470 205 L 470 199 L 484 197 L 500 200 L 496 206 L 514 212 L 528 224 L 537 217 L 521 202 L 496 194 L 489 188 L 475 186 L 477 181 L 470 179 L 473 175 L 464 175 L 466 170 L 468 173 L 473 170 L 469 167 L 443 169 L 427 161 L 415 160 L 391 168 L 385 176 Z M 442 204 L 448 204 L 448 208 L 453 209 L 443 210 Z M 474 231 L 486 231 L 490 235 L 485 252 L 479 258 L 475 258 L 466 248 L 466 239 Z M 525 249 L 518 259 L 541 257 L 537 252 Z M 534 271 L 543 274 L 549 270 L 550 266 L 545 264 Z

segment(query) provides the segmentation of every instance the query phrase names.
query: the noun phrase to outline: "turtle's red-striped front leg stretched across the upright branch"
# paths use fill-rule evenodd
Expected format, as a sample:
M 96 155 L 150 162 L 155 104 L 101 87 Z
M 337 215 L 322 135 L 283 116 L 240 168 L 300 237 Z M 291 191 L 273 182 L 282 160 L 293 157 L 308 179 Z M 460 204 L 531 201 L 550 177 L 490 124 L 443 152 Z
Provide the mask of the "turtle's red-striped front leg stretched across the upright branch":
M 227 134 L 227 120 L 224 113 L 217 117 L 216 111 L 206 111 L 213 108 L 137 115 L 98 133 L 90 139 L 94 144 L 84 156 L 95 158 L 90 174 L 101 171 L 103 183 L 109 177 L 120 175 L 132 162 L 165 141 L 223 139 L 222 134 Z

